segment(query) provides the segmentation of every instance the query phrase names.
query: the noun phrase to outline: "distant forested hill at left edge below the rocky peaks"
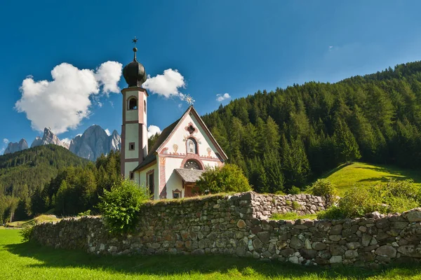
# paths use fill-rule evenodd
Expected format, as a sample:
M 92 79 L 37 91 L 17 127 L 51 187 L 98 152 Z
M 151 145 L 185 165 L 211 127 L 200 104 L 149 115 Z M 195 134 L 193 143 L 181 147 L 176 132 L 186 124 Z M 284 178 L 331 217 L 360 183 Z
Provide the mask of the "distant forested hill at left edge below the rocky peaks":
M 66 148 L 48 145 L 0 156 L 0 216 L 19 203 L 29 203 L 34 192 L 50 183 L 60 169 L 81 167 L 88 160 Z M 7 216 L 7 214 L 6 214 Z

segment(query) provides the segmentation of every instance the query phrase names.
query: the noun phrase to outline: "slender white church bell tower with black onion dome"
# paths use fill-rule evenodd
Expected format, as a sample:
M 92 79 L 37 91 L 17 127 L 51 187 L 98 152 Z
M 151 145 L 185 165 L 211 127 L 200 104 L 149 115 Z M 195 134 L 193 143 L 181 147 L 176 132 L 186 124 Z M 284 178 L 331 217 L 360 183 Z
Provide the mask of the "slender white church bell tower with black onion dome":
M 123 94 L 123 125 L 121 125 L 121 174 L 125 179 L 135 180 L 133 169 L 147 156 L 147 90 L 145 67 L 136 59 L 136 42 L 133 61 L 124 66 L 123 76 L 128 87 Z

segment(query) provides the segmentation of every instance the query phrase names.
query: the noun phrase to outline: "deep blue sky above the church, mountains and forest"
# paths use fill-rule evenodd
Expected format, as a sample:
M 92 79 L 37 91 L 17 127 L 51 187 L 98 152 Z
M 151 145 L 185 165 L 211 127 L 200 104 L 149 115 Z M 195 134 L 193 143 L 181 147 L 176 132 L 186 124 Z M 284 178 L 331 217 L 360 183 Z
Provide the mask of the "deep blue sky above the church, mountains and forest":
M 0 10 L 0 140 L 25 138 L 30 145 L 41 135 L 15 108 L 27 76 L 50 83 L 51 71 L 63 62 L 95 75 L 104 62 L 124 66 L 133 58 L 133 36 L 147 73 L 177 69 L 185 83 L 178 93 L 191 94 L 204 114 L 218 109 L 217 94 L 228 93 L 227 104 L 257 90 L 335 82 L 420 60 L 420 10 L 420 1 L 385 0 L 6 1 Z M 122 77 L 118 86 L 126 87 Z M 187 109 L 175 94 L 149 92 L 148 125 L 162 129 Z M 49 94 L 55 93 L 51 87 Z M 67 103 L 78 104 L 76 95 L 67 94 Z M 89 95 L 87 117 L 60 139 L 93 124 L 120 132 L 121 98 L 101 86 Z M 39 100 L 33 104 L 43 104 Z M 25 106 L 31 110 L 30 102 Z M 36 116 L 37 125 L 60 114 L 58 108 Z

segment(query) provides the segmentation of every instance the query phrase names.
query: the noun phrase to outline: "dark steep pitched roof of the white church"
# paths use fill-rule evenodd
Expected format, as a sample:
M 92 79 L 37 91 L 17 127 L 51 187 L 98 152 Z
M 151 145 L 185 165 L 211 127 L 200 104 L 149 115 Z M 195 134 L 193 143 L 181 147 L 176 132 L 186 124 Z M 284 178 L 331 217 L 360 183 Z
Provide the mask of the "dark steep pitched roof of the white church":
M 158 139 L 156 139 L 154 146 L 152 146 L 152 148 L 149 150 L 149 153 L 148 153 L 147 157 L 145 158 L 145 160 L 143 160 L 143 162 L 140 163 L 140 165 L 138 165 L 138 167 L 136 167 L 133 171 L 138 171 L 139 169 L 142 169 L 142 167 L 145 167 L 146 165 L 149 165 L 149 163 L 152 163 L 152 162 L 154 162 L 154 160 L 156 160 L 156 153 L 159 153 L 161 147 L 166 144 L 166 141 L 171 137 L 171 135 L 173 134 L 173 132 L 175 132 L 175 130 L 177 130 L 177 128 L 178 128 L 179 124 L 181 123 L 181 121 L 189 113 L 193 113 L 194 114 L 194 116 L 196 117 L 196 119 L 199 121 L 199 123 L 203 127 L 203 130 L 208 135 L 210 141 L 213 143 L 213 145 L 215 146 L 215 148 L 220 153 L 222 159 L 227 160 L 227 158 L 228 158 L 227 155 L 224 153 L 224 151 L 222 151 L 222 148 L 219 146 L 219 144 L 215 140 L 215 138 L 213 138 L 213 135 L 210 133 L 210 131 L 209 131 L 208 127 L 206 127 L 205 123 L 203 123 L 203 120 L 200 118 L 199 114 L 196 112 L 196 110 L 194 109 L 193 106 L 189 106 L 189 108 L 185 111 L 185 113 L 182 115 L 181 118 L 179 118 L 178 120 L 176 120 L 171 125 L 168 125 L 168 127 L 166 127 L 161 132 L 161 134 L 159 135 Z

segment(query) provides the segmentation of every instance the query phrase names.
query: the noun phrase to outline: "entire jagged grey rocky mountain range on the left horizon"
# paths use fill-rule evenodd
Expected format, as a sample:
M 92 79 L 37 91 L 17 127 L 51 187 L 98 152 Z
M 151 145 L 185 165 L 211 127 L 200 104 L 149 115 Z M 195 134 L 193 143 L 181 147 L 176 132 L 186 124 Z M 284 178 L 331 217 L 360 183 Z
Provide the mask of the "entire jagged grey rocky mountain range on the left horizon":
M 109 151 L 117 151 L 121 148 L 121 137 L 116 130 L 108 135 L 99 125 L 91 125 L 83 134 L 79 134 L 69 142 L 61 141 L 50 128 L 44 129 L 43 137 L 36 137 L 32 141 L 31 148 L 54 144 L 67 148 L 69 151 L 87 160 L 96 160 L 100 155 Z M 29 148 L 27 141 L 21 139 L 18 143 L 10 142 L 4 151 L 4 155 L 15 153 Z

